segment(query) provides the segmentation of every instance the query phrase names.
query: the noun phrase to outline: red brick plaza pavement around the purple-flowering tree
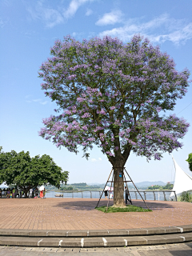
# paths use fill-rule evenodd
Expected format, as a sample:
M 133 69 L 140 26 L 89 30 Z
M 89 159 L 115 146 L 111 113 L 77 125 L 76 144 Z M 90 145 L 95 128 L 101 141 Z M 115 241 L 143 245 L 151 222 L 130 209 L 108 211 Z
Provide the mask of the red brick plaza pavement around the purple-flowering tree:
M 192 224 L 189 202 L 146 201 L 153 212 L 111 214 L 95 210 L 97 202 L 82 198 L 2 198 L 0 229 L 108 230 Z M 142 201 L 133 203 L 145 206 Z M 105 199 L 102 205 L 106 205 Z

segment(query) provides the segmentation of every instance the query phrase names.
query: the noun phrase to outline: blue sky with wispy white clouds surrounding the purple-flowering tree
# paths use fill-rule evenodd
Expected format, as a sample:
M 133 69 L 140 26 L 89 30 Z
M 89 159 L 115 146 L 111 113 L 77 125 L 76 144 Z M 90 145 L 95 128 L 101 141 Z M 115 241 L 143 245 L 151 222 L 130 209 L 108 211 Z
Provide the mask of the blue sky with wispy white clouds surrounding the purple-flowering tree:
M 110 162 L 97 147 L 90 160 L 59 150 L 38 137 L 42 118 L 54 114 L 55 104 L 44 96 L 38 69 L 50 56 L 50 46 L 67 34 L 83 38 L 106 34 L 129 42 L 142 34 L 163 52 L 170 54 L 177 70 L 192 70 L 192 1 L 191 0 L 1 0 L 1 69 L 0 69 L 0 141 L 4 151 L 30 151 L 30 155 L 49 154 L 58 166 L 70 171 L 69 182 L 106 182 Z M 192 77 L 190 76 L 190 79 Z M 192 125 L 192 89 L 178 100 L 174 113 Z M 190 106 L 188 106 L 190 105 Z M 188 106 L 188 107 L 186 107 Z M 185 109 L 186 108 L 186 109 Z M 170 113 L 167 113 L 170 114 Z M 192 127 L 182 140 L 182 150 L 174 151 L 176 162 L 186 170 L 192 152 Z M 162 161 L 130 154 L 126 170 L 134 182 L 170 182 L 174 179 L 171 156 Z

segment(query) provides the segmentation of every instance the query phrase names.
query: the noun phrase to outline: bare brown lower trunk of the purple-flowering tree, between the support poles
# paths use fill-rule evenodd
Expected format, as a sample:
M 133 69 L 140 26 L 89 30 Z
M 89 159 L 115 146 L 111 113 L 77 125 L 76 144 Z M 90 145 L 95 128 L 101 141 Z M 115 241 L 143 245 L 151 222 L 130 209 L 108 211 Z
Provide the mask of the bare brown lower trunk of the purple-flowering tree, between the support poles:
M 114 206 L 125 206 L 124 202 L 124 182 L 123 182 L 123 164 L 114 163 Z

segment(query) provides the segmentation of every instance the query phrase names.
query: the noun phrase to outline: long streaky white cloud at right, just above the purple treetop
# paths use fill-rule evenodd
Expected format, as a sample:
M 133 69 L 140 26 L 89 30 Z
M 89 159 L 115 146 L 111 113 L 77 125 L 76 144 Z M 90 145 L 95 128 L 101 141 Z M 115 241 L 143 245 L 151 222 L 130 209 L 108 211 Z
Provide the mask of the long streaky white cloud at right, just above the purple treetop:
M 107 34 L 127 42 L 130 41 L 134 34 L 142 34 L 149 38 L 151 42 L 170 41 L 174 42 L 175 45 L 184 43 L 192 38 L 192 22 L 187 24 L 185 20 L 170 18 L 167 14 L 154 18 L 149 22 L 142 22 L 142 19 L 129 19 L 124 26 L 105 30 L 99 36 L 103 37 Z

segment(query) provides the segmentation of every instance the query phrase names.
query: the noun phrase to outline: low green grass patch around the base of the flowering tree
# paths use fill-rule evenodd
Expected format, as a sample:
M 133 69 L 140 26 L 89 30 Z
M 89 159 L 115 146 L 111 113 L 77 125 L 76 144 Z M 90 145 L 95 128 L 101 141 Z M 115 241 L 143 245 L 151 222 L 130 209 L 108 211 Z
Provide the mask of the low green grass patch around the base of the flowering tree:
M 126 207 L 113 207 L 110 206 L 107 209 L 106 212 L 106 206 L 101 206 L 101 207 L 95 207 L 96 210 L 101 210 L 103 213 L 120 213 L 120 212 L 146 212 L 146 211 L 152 211 L 149 209 L 144 209 L 142 207 L 138 206 L 126 206 Z

